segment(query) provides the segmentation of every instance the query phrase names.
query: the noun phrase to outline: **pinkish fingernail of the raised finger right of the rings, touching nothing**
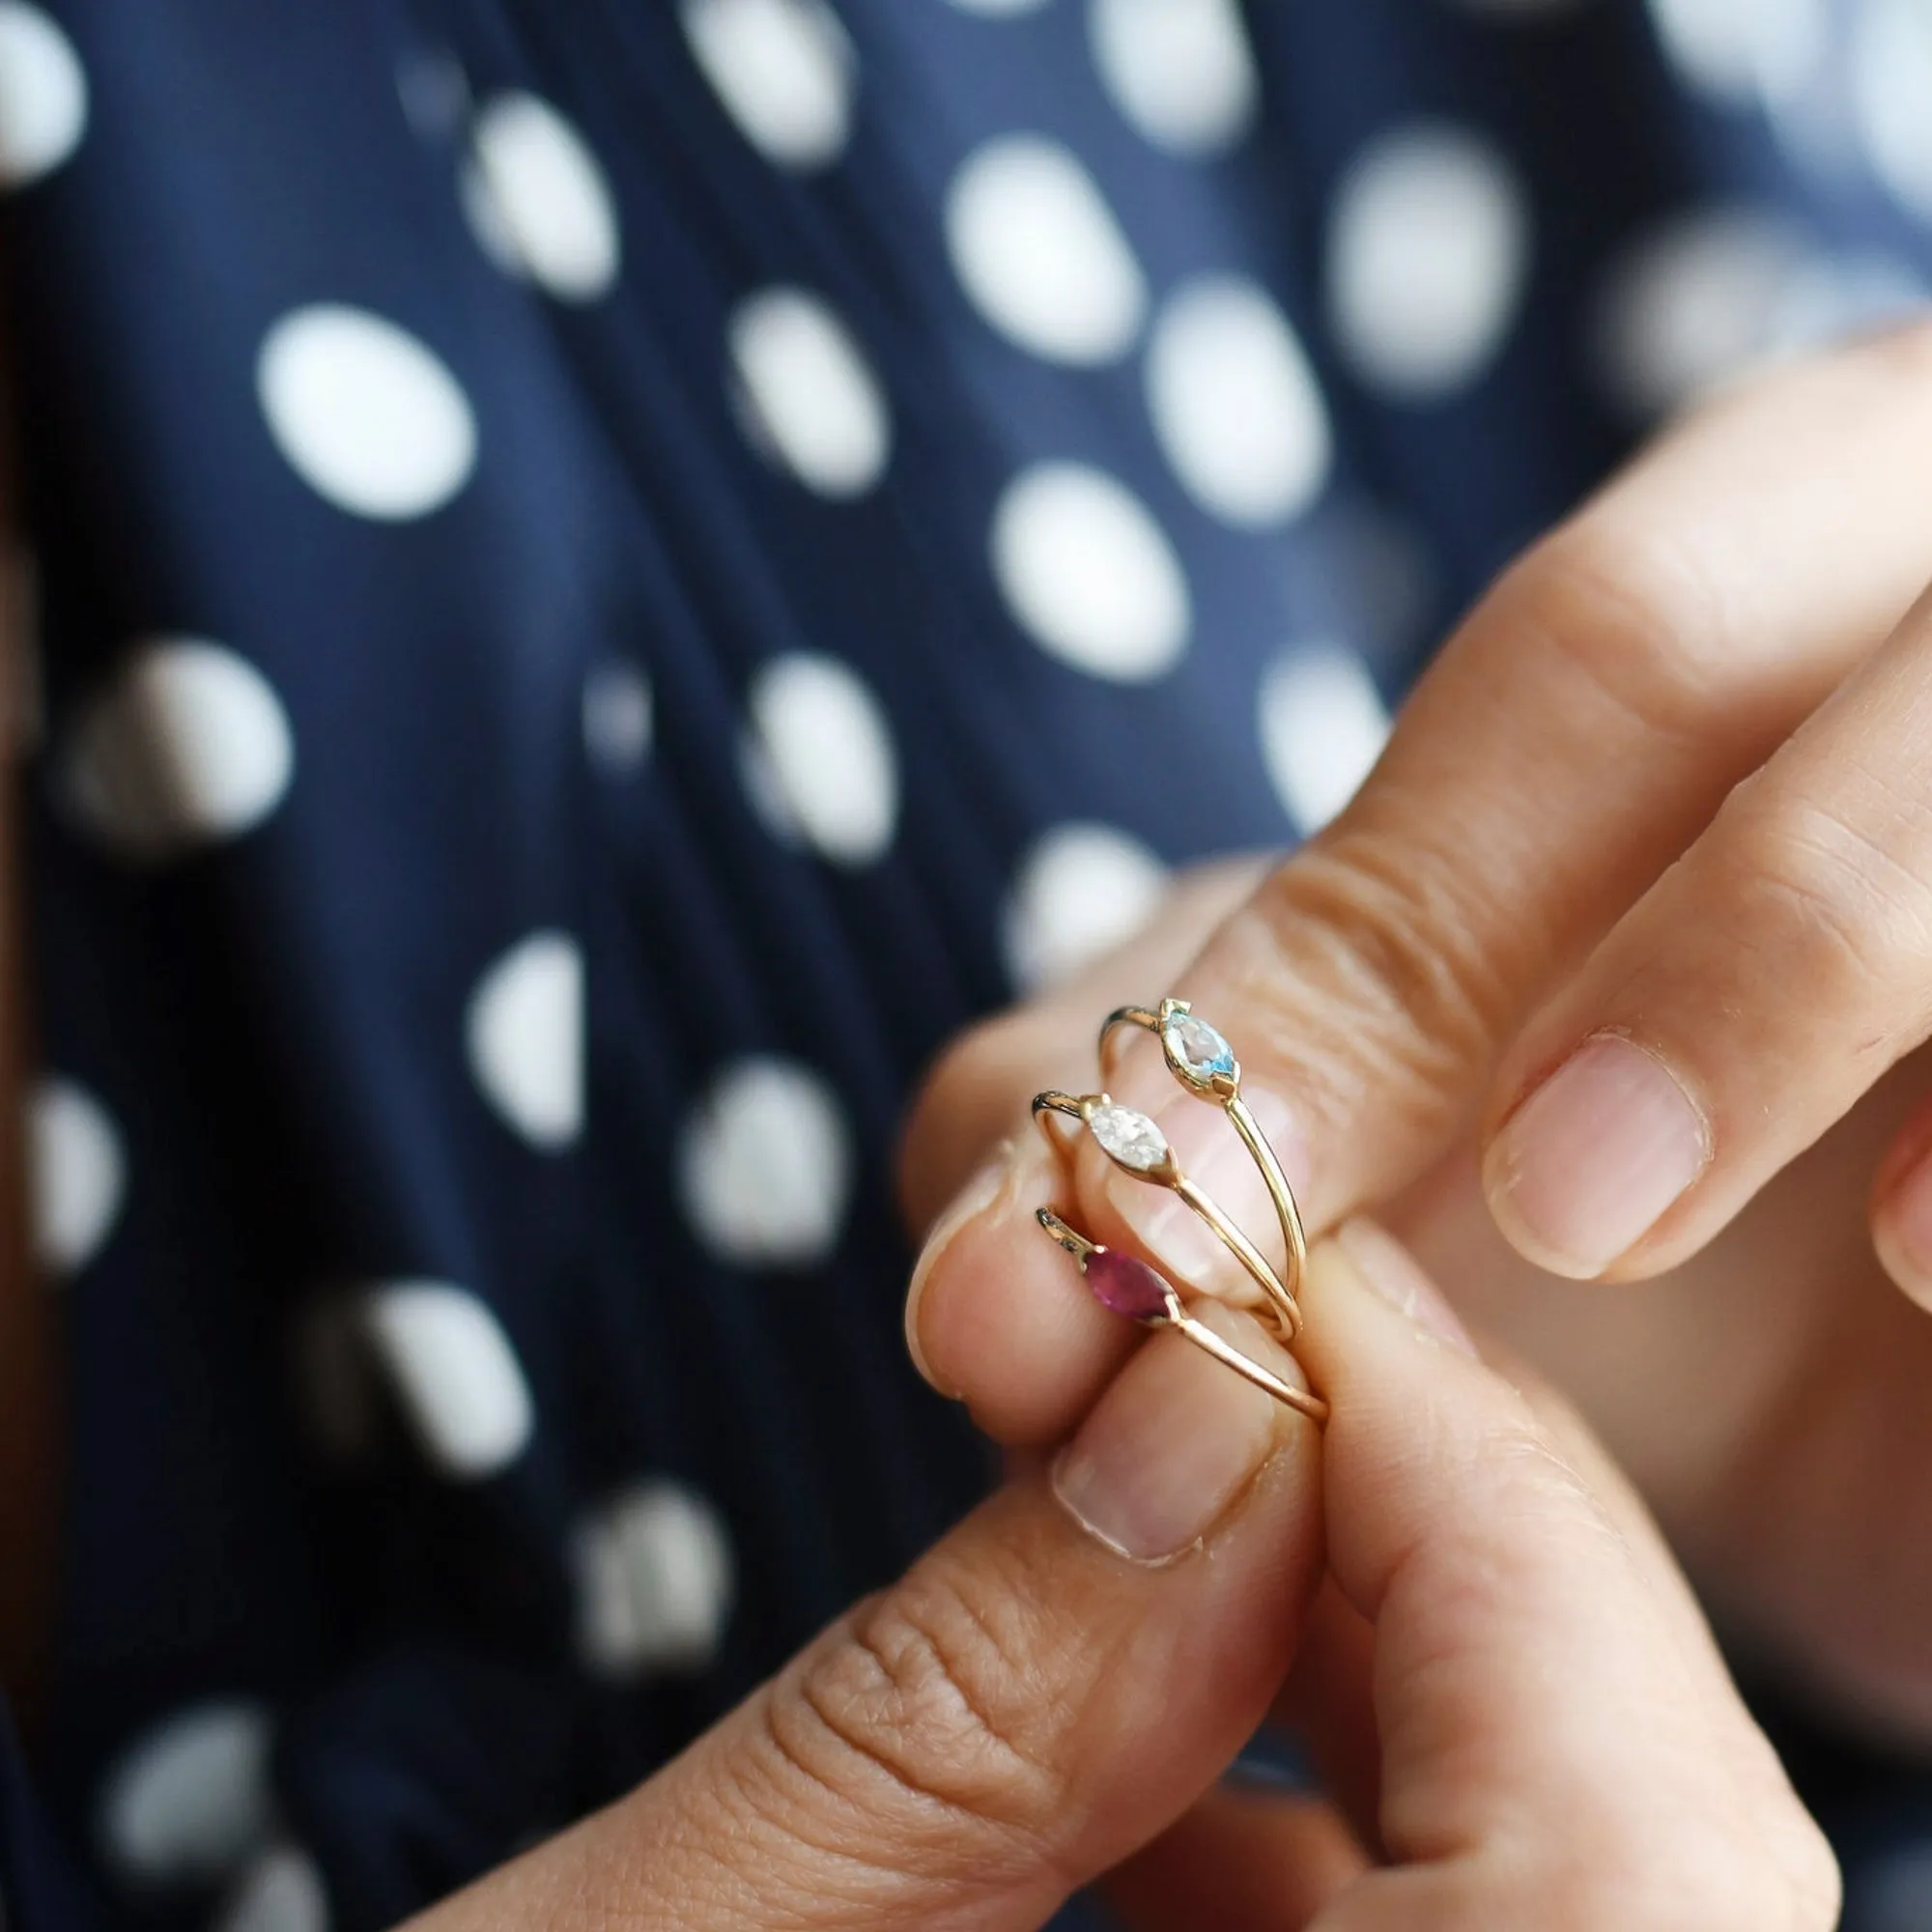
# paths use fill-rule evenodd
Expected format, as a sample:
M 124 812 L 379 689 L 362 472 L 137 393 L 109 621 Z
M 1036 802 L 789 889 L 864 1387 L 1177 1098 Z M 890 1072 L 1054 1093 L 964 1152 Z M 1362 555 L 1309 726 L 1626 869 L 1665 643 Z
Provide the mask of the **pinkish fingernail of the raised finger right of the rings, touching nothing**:
M 1505 1122 L 1482 1165 L 1511 1242 L 1557 1275 L 1600 1275 L 1710 1161 L 1710 1130 L 1654 1055 L 1586 1039 Z

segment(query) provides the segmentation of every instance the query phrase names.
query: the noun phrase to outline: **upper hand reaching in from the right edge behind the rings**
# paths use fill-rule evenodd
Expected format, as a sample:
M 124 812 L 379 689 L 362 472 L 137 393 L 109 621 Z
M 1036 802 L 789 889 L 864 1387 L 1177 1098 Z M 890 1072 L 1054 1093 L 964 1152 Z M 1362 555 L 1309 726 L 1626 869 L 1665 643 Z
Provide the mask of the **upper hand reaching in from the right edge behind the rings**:
M 1092 1072 L 1109 1005 L 1192 997 L 1298 1150 L 1312 1227 L 1391 1204 L 1584 1405 L 1727 1615 L 1932 1731 L 1932 1325 L 1876 1260 L 1932 1300 L 1926 502 L 1932 330 L 1673 431 L 1484 599 L 1321 838 L 1246 898 L 1221 881 L 1192 966 L 1198 906 L 941 1066 L 914 1213 L 1036 1086 Z M 1150 1047 L 1109 1086 L 1171 1107 Z M 1182 1153 L 1211 1130 L 1180 1099 Z M 1022 1161 L 1022 1194 L 1047 1184 L 1043 1150 Z M 1078 1186 L 1103 1233 L 1238 1287 L 1190 1217 L 1150 1219 L 1159 1196 L 1092 1155 Z M 925 1271 L 916 1333 L 941 1385 L 995 1325 L 1032 1339 L 985 1414 L 1026 1437 L 1119 1339 L 1009 1227 L 997 1287 Z M 1644 1285 L 1507 1267 L 1497 1227 L 1544 1269 Z

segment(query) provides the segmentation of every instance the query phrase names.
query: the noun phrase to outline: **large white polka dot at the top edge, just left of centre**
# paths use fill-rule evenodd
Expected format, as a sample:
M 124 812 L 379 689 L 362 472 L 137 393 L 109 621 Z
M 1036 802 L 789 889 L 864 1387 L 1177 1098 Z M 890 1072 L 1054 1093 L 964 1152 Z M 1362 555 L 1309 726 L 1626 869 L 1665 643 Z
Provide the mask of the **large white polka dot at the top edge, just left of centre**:
M 684 0 L 684 37 L 738 131 L 784 168 L 823 168 L 852 133 L 854 60 L 823 0 Z

